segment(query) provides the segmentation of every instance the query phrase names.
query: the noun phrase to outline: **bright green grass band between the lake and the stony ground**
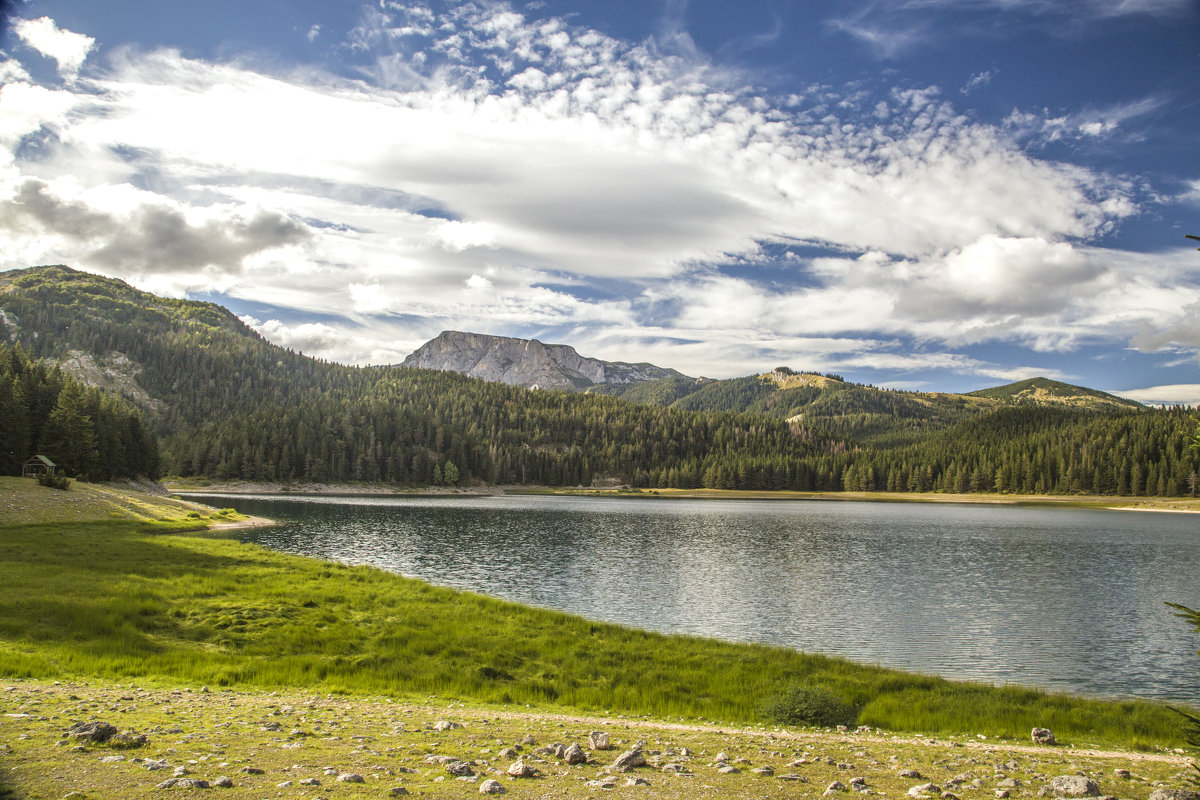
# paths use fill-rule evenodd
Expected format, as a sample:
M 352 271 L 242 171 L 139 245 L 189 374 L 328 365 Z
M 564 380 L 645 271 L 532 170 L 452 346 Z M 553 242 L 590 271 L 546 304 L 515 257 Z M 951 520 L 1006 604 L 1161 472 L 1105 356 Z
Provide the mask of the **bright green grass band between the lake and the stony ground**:
M 49 491 L 49 489 L 46 489 Z M 0 527 L 0 675 L 439 696 L 728 723 L 790 685 L 925 734 L 1177 746 L 1177 715 L 664 636 L 287 555 L 188 521 Z M 168 531 L 168 533 L 164 533 Z

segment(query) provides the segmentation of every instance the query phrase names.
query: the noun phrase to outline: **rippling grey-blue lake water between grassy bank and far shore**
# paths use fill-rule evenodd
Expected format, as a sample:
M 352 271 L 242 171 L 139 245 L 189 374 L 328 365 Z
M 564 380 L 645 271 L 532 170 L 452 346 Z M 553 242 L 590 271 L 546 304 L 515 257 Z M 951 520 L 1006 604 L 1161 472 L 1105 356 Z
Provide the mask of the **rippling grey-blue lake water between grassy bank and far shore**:
M 598 620 L 1200 704 L 1200 518 L 1030 506 L 209 495 L 246 541 Z

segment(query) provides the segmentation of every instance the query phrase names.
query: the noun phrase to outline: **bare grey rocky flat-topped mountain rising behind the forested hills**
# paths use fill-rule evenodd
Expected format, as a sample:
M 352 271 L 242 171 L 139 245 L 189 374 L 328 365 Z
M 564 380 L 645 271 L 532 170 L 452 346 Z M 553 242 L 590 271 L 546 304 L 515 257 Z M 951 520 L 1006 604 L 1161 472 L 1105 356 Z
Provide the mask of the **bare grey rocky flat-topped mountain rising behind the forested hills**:
M 401 366 L 457 372 L 511 386 L 563 391 L 582 391 L 598 384 L 694 380 L 652 363 L 588 359 L 566 344 L 542 344 L 538 339 L 462 331 L 443 331 L 404 359 Z

